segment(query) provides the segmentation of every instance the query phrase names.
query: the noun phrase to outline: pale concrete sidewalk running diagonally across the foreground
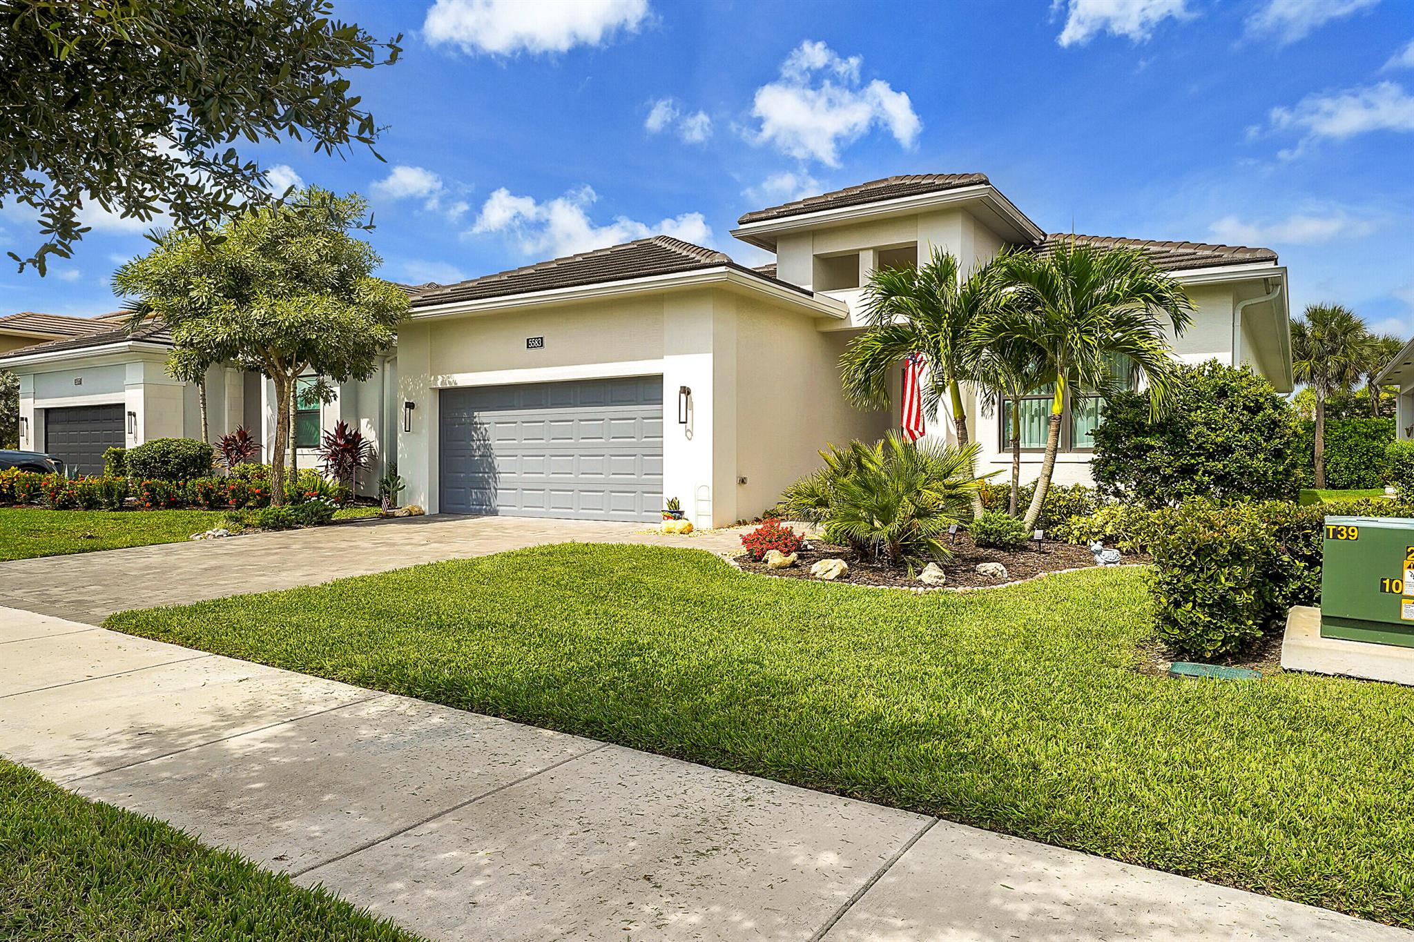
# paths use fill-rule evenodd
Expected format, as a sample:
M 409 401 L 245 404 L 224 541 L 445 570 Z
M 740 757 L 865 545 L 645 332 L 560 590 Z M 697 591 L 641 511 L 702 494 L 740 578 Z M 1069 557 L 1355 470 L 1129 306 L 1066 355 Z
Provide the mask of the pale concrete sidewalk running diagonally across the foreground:
M 0 753 L 434 939 L 1414 939 L 16 609 Z

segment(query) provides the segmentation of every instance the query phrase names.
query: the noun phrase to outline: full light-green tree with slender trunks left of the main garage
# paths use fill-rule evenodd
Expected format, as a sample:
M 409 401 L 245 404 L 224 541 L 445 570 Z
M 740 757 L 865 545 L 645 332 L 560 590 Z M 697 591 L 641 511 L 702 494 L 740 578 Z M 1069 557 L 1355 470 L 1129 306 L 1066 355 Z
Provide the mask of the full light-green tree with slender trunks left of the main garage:
M 369 378 L 407 315 L 407 295 L 373 275 L 382 260 L 351 234 L 366 208 L 361 196 L 311 186 L 232 217 L 209 233 L 215 237 L 160 234 L 151 253 L 113 275 L 115 291 L 171 330 L 174 364 L 194 357 L 270 377 L 280 404 L 271 452 L 277 503 L 298 377 Z

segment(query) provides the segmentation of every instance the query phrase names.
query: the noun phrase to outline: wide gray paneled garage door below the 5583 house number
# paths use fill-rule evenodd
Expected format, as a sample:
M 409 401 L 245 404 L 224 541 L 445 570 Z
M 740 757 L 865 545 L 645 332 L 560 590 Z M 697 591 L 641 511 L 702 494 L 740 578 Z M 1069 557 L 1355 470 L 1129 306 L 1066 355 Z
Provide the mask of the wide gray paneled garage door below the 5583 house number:
M 656 520 L 663 377 L 443 390 L 441 508 Z

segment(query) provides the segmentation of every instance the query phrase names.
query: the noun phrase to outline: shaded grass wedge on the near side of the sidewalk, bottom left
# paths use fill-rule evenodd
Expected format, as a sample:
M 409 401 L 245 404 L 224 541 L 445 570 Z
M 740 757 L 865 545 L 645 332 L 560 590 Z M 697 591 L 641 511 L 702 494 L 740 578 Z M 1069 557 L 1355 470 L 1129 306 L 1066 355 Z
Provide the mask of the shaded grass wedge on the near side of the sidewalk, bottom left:
M 3 939 L 416 941 L 322 890 L 4 760 L 0 847 Z

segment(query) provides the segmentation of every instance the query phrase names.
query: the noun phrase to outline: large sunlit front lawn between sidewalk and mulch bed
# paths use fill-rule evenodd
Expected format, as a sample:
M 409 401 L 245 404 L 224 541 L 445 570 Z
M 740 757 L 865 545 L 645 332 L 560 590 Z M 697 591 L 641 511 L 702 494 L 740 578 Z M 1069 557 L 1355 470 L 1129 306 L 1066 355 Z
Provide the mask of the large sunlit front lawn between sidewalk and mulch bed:
M 1414 925 L 1414 691 L 1141 674 L 1147 578 L 916 596 L 580 544 L 106 624 Z

